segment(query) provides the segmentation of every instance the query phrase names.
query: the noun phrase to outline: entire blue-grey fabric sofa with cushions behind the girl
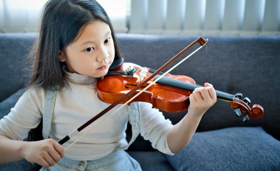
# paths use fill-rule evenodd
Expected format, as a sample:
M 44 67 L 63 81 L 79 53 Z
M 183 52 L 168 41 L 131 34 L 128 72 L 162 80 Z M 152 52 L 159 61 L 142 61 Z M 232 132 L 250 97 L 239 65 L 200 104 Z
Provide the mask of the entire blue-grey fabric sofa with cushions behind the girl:
M 25 58 L 36 36 L 0 33 L 0 119 L 26 87 Z M 117 38 L 125 62 L 158 69 L 198 37 L 117 34 Z M 244 124 L 228 102 L 218 100 L 182 152 L 164 155 L 138 136 L 128 153 L 143 170 L 280 170 L 280 37 L 204 38 L 209 39 L 207 47 L 172 74 L 190 76 L 198 84 L 210 82 L 229 94 L 242 93 L 251 100 L 249 106 L 263 106 L 264 116 Z M 176 124 L 185 113 L 164 116 Z M 0 164 L 0 170 L 39 168 L 26 160 Z

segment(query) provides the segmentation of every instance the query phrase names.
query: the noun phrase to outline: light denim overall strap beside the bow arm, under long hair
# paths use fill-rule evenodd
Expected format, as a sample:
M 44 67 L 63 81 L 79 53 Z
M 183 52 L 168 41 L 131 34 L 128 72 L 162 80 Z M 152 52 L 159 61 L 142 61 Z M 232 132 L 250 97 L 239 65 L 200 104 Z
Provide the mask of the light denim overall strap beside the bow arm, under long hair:
M 57 90 L 54 88 L 48 89 L 46 93 L 46 100 L 45 100 L 45 105 L 43 109 L 43 138 L 47 139 L 49 138 L 49 131 L 50 131 L 50 126 L 51 126 L 51 120 L 52 120 L 52 113 L 53 113 L 53 108 L 55 105 L 55 99 L 57 97 Z

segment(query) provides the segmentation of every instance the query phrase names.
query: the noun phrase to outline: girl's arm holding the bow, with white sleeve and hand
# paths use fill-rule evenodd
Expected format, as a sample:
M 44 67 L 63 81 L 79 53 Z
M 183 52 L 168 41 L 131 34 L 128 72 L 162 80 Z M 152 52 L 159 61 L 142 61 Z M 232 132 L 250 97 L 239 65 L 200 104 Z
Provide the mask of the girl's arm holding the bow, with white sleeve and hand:
M 64 156 L 63 147 L 53 139 L 22 141 L 41 121 L 44 92 L 27 91 L 11 112 L 0 120 L 0 163 L 26 159 L 44 167 Z

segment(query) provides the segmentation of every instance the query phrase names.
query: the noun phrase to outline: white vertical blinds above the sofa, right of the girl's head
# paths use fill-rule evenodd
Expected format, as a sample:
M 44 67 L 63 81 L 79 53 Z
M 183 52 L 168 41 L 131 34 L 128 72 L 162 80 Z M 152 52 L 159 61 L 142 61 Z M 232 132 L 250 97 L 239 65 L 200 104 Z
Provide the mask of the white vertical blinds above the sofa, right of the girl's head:
M 135 4 L 143 0 L 131 1 L 131 16 L 137 10 L 138 18 L 147 18 L 147 22 L 141 21 L 147 25 L 139 26 L 142 33 L 280 35 L 280 0 L 145 0 L 142 13 Z M 134 18 L 129 33 L 137 30 Z

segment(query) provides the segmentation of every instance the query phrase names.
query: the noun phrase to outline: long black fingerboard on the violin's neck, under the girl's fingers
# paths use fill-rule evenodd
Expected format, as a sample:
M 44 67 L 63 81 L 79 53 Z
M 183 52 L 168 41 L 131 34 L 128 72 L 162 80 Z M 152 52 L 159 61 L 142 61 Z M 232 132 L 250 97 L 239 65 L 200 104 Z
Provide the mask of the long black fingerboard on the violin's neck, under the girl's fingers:
M 160 75 L 155 76 L 154 79 L 157 79 L 159 76 Z M 169 77 L 162 77 L 157 81 L 157 83 L 164 84 L 166 86 L 170 86 L 170 87 L 174 87 L 174 88 L 191 91 L 191 92 L 194 91 L 195 88 L 203 87 L 203 86 L 200 86 L 197 84 L 191 84 L 189 82 L 184 82 L 184 81 L 180 81 L 180 80 L 169 78 Z M 216 91 L 217 98 L 220 100 L 233 101 L 233 99 L 235 99 L 234 95 L 220 92 L 217 90 L 215 90 L 215 91 Z

